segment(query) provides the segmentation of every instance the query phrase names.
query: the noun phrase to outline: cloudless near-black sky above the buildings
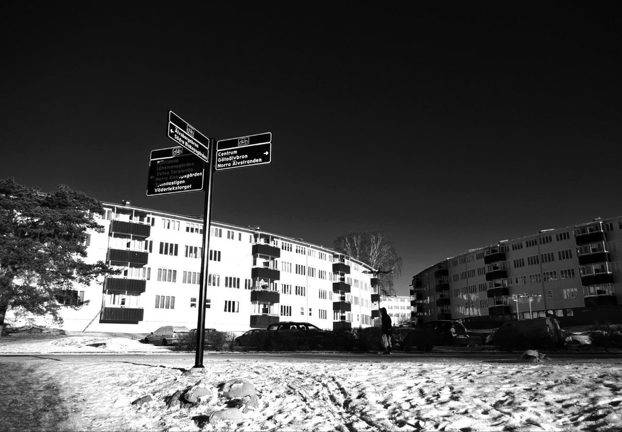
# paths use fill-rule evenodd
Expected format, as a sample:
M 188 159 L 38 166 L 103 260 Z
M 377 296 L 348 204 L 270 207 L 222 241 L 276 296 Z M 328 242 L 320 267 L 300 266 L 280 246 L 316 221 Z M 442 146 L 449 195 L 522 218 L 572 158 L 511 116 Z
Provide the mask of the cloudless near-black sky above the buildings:
M 401 295 L 445 257 L 622 214 L 620 2 L 41 4 L 0 22 L 1 178 L 199 214 L 201 192 L 146 196 L 168 111 L 272 132 L 271 164 L 215 174 L 213 219 L 388 231 Z

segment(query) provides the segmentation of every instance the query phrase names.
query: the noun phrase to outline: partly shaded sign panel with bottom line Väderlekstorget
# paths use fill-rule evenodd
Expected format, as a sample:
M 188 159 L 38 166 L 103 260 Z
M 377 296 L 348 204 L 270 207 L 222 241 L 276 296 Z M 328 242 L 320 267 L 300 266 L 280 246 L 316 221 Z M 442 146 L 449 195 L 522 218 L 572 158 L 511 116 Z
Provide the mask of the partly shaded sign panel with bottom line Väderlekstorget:
M 205 163 L 182 147 L 152 150 L 147 196 L 203 190 Z

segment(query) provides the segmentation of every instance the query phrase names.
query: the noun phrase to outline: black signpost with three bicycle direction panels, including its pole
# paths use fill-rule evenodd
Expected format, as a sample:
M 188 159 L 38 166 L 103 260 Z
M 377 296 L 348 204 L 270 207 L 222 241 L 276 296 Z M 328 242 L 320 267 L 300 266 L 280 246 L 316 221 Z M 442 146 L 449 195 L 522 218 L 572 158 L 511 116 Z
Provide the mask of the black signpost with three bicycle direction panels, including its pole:
M 167 193 L 207 191 L 203 209 L 203 250 L 201 255 L 201 282 L 198 304 L 205 305 L 210 250 L 211 196 L 214 172 L 231 168 L 251 167 L 272 162 L 272 132 L 218 141 L 201 132 L 169 111 L 167 136 L 182 147 L 159 149 L 151 152 L 147 196 Z M 218 155 L 216 155 L 216 147 Z M 197 159 L 198 157 L 198 159 Z M 207 190 L 203 182 L 208 168 Z M 192 369 L 203 368 L 203 342 L 205 341 L 205 307 L 198 308 L 197 353 Z

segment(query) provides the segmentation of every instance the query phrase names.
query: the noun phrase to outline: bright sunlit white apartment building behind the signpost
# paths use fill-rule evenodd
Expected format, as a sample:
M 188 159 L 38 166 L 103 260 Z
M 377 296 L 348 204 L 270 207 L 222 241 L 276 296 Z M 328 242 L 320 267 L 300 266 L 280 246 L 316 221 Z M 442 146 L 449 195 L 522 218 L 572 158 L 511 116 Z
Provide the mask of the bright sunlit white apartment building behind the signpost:
M 121 274 L 75 287 L 62 310 L 72 331 L 149 333 L 162 325 L 196 328 L 202 218 L 103 203 L 103 232 L 89 232 L 88 262 Z M 207 328 L 242 332 L 274 321 L 308 321 L 323 329 L 372 326 L 368 265 L 334 250 L 259 227 L 214 222 L 210 229 Z M 375 306 L 375 308 L 374 308 Z M 7 322 L 42 321 L 7 313 Z M 44 323 L 51 325 L 49 318 Z

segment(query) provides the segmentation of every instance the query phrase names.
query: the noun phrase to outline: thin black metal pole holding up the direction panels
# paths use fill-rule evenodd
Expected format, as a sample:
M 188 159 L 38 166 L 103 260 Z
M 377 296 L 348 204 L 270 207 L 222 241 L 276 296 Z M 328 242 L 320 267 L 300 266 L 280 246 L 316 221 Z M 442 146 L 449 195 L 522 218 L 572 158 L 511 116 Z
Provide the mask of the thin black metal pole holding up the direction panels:
M 203 211 L 203 250 L 201 254 L 201 283 L 198 293 L 198 322 L 197 322 L 197 354 L 195 356 L 195 368 L 203 367 L 203 342 L 205 341 L 205 300 L 207 298 L 207 278 L 210 263 L 210 229 L 211 229 L 211 195 L 214 185 L 214 167 L 216 154 L 216 140 L 210 138 L 210 177 L 207 183 L 207 195 L 205 196 L 205 209 Z

